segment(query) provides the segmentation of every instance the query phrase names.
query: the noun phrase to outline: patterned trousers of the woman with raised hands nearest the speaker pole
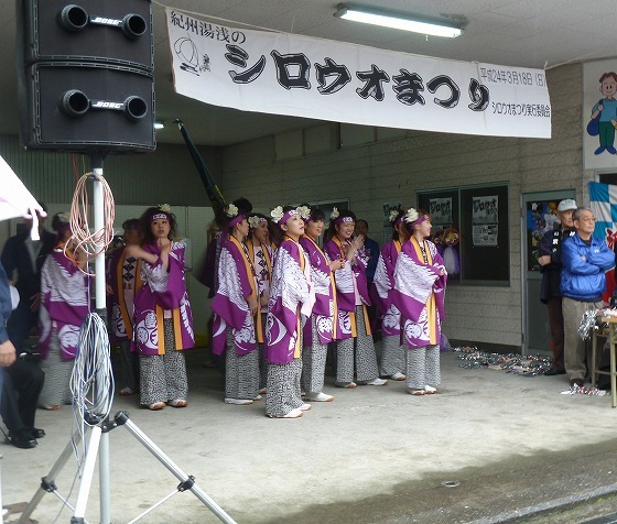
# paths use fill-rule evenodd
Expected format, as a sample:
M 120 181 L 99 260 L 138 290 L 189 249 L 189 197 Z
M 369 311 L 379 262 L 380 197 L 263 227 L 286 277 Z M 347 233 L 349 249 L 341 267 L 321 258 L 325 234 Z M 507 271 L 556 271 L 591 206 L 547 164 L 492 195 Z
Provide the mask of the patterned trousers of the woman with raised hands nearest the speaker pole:
M 165 353 L 140 354 L 140 403 L 144 406 L 156 402 L 186 400 L 188 380 L 182 351 L 175 349 L 173 319 L 165 318 Z

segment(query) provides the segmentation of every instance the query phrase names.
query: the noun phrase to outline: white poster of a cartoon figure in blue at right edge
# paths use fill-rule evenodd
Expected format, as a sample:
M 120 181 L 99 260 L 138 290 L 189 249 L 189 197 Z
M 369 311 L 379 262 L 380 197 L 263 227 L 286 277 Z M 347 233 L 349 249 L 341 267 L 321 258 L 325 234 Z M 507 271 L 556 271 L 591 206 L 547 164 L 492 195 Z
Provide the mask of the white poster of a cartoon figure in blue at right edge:
M 617 58 L 583 64 L 585 170 L 617 167 Z

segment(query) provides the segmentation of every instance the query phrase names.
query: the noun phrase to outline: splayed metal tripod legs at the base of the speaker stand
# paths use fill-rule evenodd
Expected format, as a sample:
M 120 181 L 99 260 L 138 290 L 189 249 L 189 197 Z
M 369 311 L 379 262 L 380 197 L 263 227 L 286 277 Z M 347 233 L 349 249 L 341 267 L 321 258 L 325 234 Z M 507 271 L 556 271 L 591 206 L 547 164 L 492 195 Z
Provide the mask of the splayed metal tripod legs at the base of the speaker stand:
M 148 513 L 155 510 L 163 502 L 167 501 L 173 495 L 175 495 L 177 493 L 182 493 L 184 491 L 193 492 L 193 494 L 197 499 L 199 499 L 204 503 L 204 505 L 206 505 L 221 522 L 225 522 L 227 524 L 236 524 L 236 521 L 234 521 L 214 500 L 212 500 L 195 483 L 195 478 L 193 476 L 187 476 L 184 471 L 182 471 L 161 450 L 161 448 L 159 448 L 141 429 L 139 429 L 139 427 L 137 427 L 130 421 L 129 414 L 127 412 L 123 412 L 123 411 L 118 412 L 115 415 L 113 421 L 108 421 L 104 424 L 100 424 L 98 426 L 93 427 L 93 432 L 91 432 L 91 435 L 90 435 L 90 444 L 88 446 L 88 452 L 87 452 L 86 462 L 85 462 L 85 466 L 84 466 L 84 479 L 91 481 L 91 473 L 93 473 L 93 470 L 94 470 L 94 463 L 96 461 L 96 450 L 98 448 L 101 435 L 105 435 L 105 434 L 109 433 L 110 430 L 112 430 L 112 429 L 115 429 L 119 426 L 125 426 L 131 433 L 131 435 L 133 437 L 136 437 L 143 447 L 145 447 L 145 449 L 148 449 L 154 457 L 156 457 L 159 459 L 159 461 L 163 466 L 165 466 L 165 468 L 167 468 L 174 474 L 174 477 L 177 480 L 181 481 L 181 483 L 176 487 L 175 491 L 173 491 L 172 493 L 164 496 L 159 502 L 156 502 L 155 504 L 153 504 L 152 506 L 147 509 L 143 513 L 141 513 L 136 518 L 130 521 L 129 524 L 138 522 L 140 518 L 145 516 Z M 76 433 L 77 439 L 79 438 L 78 435 L 79 435 L 79 432 Z M 75 445 L 78 445 L 78 441 Z M 64 465 L 66 463 L 66 461 L 71 457 L 72 452 L 73 452 L 73 443 L 69 441 L 67 444 L 66 448 L 64 449 L 63 454 L 59 456 L 59 458 L 56 460 L 55 465 L 52 467 L 52 470 L 50 471 L 50 473 L 42 479 L 41 489 L 34 494 L 34 496 L 32 498 L 32 500 L 28 504 L 26 509 L 22 513 L 22 515 L 19 520 L 20 524 L 21 523 L 23 523 L 23 524 L 28 523 L 28 520 L 29 520 L 30 515 L 32 514 L 32 512 L 34 511 L 34 509 L 36 507 L 36 505 L 39 504 L 39 502 L 41 501 L 41 499 L 43 498 L 43 495 L 46 492 L 54 493 L 56 496 L 58 496 L 58 499 L 61 499 L 63 501 L 64 504 L 68 505 L 71 509 L 73 509 L 73 506 L 71 506 L 71 504 L 66 501 L 66 499 L 64 499 L 59 493 L 57 493 L 57 488 L 54 483 L 57 474 L 59 473 L 59 471 L 62 470 L 62 468 L 64 467 Z M 101 474 L 101 481 L 104 481 L 104 480 L 106 480 L 106 479 L 102 479 L 102 474 Z M 107 481 L 109 479 L 107 479 Z M 87 485 L 87 490 L 89 490 L 89 483 Z M 79 496 L 77 498 L 77 502 L 76 502 L 75 507 L 74 507 L 75 515 L 71 518 L 71 524 L 83 524 L 83 523 L 86 522 L 84 520 L 83 515 L 85 513 L 86 503 L 87 503 L 87 492 L 85 493 L 85 498 L 83 496 L 83 492 L 84 492 L 84 485 L 82 484 L 80 490 L 79 490 Z

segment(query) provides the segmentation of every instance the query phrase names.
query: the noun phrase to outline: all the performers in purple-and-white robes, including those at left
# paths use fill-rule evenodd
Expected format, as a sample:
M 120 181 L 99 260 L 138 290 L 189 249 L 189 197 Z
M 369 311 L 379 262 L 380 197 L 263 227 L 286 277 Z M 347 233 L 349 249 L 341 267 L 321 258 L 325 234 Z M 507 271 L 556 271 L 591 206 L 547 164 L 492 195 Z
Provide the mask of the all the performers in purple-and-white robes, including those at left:
M 378 363 L 367 310 L 368 260 L 364 237 L 354 234 L 353 211 L 333 210 L 320 245 L 326 217 L 318 208 L 279 206 L 268 217 L 240 198 L 219 210 L 219 232 L 207 256 L 214 295 L 210 348 L 224 356 L 227 404 L 252 404 L 266 395 L 269 417 L 297 418 L 311 410 L 310 402 L 333 401 L 323 391 L 328 345 L 335 348 L 338 387 L 383 386 L 392 379 L 405 380 L 407 391 L 416 396 L 436 392 L 447 273 L 429 240 L 426 212 L 398 209 L 389 219 L 392 239 L 381 250 L 372 294 L 383 337 Z M 155 206 L 123 227 L 126 245 L 109 258 L 107 275 L 110 335 L 120 347 L 120 393 L 139 391 L 140 404 L 153 411 L 184 407 L 188 384 L 182 350 L 194 346 L 194 331 L 175 217 L 169 206 Z M 66 255 L 65 233 L 58 239 L 43 269 L 48 318 L 42 336 L 61 362 L 74 358 L 89 284 L 79 262 Z M 61 276 L 69 280 L 63 283 Z M 62 308 L 54 317 L 50 306 L 58 296 L 65 305 L 75 303 L 69 312 L 75 318 Z

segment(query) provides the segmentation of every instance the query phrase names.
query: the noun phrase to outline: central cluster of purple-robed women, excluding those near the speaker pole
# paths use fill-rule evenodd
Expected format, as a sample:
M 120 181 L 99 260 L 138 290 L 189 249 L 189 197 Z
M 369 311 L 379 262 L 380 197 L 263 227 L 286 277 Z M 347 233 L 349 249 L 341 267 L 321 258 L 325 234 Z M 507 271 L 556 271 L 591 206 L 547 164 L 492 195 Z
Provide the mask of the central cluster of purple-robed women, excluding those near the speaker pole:
M 218 216 L 213 345 L 225 353 L 225 402 L 247 405 L 266 394 L 266 414 L 297 418 L 323 391 L 328 345 L 336 347 L 338 387 L 383 386 L 407 380 L 420 396 L 440 384 L 441 321 L 447 273 L 430 216 L 390 215 L 393 236 L 381 251 L 375 284 L 382 314 L 378 365 L 367 306 L 364 238 L 356 216 L 334 209 L 323 247 L 318 208 L 279 206 L 270 217 L 238 199 Z M 216 259 L 210 259 L 215 260 Z

